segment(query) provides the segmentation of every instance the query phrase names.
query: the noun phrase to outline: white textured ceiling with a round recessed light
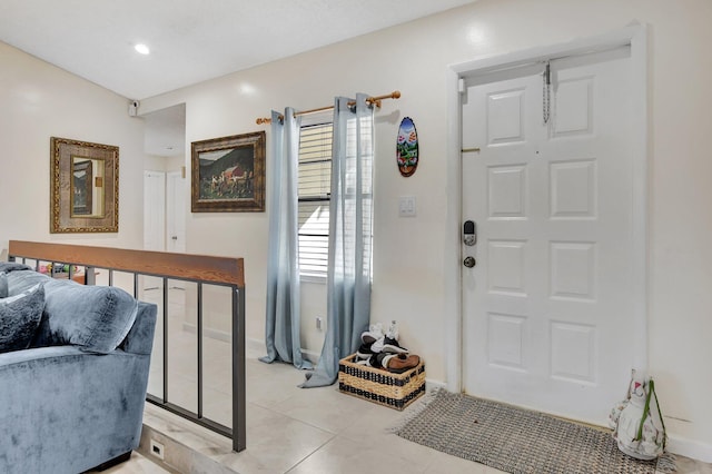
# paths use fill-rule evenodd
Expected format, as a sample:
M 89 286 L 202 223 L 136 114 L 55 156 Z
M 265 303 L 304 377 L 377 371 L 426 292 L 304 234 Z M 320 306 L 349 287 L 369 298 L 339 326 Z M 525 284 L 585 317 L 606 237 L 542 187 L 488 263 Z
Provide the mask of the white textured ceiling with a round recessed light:
M 140 100 L 473 1 L 1 0 L 0 41 Z

